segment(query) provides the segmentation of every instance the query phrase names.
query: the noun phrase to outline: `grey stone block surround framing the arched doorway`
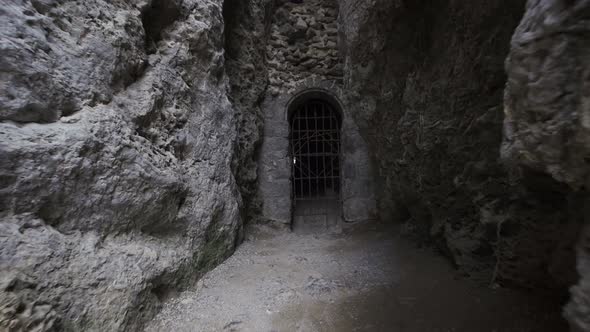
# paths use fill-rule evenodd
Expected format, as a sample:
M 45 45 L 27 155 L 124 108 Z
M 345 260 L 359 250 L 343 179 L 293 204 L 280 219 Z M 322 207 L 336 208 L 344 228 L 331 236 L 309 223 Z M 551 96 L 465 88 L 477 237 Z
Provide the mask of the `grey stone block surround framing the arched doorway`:
M 336 212 L 332 214 L 345 222 L 374 218 L 376 204 L 367 143 L 344 103 L 344 96 L 339 84 L 310 79 L 297 89 L 276 97 L 267 96 L 264 100 L 261 107 L 264 133 L 258 155 L 258 193 L 263 221 L 286 227 L 295 221 L 290 125 L 295 111 L 312 100 L 321 100 L 334 109 L 339 121 L 340 186 L 338 199 L 332 204 Z

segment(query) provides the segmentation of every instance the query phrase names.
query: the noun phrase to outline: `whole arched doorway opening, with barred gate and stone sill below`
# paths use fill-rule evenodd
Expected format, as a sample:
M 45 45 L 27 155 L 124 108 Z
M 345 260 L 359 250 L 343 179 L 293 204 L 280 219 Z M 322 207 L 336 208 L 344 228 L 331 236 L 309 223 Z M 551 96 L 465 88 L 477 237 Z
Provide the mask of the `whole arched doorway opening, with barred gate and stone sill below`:
M 330 226 L 340 216 L 341 116 L 333 103 L 318 96 L 292 106 L 293 226 Z

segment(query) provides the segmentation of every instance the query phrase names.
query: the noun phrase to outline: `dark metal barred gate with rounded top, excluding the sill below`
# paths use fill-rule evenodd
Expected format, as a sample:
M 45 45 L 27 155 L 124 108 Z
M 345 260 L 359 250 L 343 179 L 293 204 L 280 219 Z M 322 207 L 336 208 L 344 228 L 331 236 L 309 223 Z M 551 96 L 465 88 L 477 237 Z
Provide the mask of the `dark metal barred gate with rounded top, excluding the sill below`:
M 294 203 L 340 198 L 340 119 L 319 99 L 298 107 L 291 118 Z

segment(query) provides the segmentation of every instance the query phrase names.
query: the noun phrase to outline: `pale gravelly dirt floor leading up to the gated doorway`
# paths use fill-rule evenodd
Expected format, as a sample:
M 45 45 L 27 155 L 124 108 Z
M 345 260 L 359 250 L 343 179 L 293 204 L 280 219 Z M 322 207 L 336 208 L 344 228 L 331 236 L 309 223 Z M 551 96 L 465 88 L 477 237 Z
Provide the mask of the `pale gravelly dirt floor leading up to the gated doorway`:
M 567 331 L 559 304 L 464 280 L 397 234 L 251 230 L 146 331 Z

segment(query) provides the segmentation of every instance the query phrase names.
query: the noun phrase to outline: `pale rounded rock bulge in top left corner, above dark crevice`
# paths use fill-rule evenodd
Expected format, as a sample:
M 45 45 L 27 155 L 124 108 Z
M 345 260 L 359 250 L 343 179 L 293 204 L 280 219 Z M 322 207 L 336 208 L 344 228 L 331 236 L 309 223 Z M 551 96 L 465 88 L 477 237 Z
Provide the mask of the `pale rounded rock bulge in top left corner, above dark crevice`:
M 53 122 L 111 101 L 147 64 L 140 6 L 101 1 L 3 5 L 0 120 Z

